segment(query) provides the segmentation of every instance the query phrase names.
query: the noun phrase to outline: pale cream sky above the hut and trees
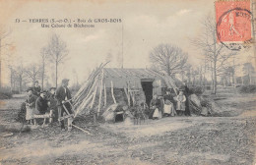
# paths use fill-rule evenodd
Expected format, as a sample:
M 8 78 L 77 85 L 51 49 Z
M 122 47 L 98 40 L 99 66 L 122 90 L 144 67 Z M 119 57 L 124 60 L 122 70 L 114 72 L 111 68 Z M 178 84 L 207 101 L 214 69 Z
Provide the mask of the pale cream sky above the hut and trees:
M 203 56 L 191 45 L 191 39 L 201 33 L 201 22 L 208 15 L 215 16 L 213 0 L 0 0 L 1 24 L 12 31 L 7 40 L 14 48 L 6 53 L 12 57 L 12 65 L 39 64 L 40 49 L 56 33 L 69 50 L 68 59 L 60 66 L 59 80 L 67 78 L 71 83 L 75 82 L 74 72 L 83 83 L 90 71 L 109 58 L 107 67 L 120 67 L 122 54 L 124 68 L 150 67 L 149 54 L 160 43 L 179 46 L 188 53 L 189 63 L 197 66 Z M 17 24 L 16 19 L 121 19 L 121 23 L 45 28 L 40 24 Z M 8 70 L 3 67 L 3 82 L 8 83 Z M 47 69 L 54 84 L 53 68 L 48 64 Z

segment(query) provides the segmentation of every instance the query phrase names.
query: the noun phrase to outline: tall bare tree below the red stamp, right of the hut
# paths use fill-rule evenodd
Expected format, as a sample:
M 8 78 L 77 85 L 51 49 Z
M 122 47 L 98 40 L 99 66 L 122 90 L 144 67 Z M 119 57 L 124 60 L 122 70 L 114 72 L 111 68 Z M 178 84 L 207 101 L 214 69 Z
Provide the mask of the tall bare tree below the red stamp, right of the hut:
M 215 19 L 211 16 L 208 16 L 202 22 L 201 35 L 192 39 L 191 43 L 204 52 L 205 59 L 210 63 L 209 67 L 212 73 L 213 91 L 216 94 L 217 77 L 221 76 L 225 69 L 230 66 L 228 60 L 230 57 L 234 56 L 235 53 L 218 42 Z

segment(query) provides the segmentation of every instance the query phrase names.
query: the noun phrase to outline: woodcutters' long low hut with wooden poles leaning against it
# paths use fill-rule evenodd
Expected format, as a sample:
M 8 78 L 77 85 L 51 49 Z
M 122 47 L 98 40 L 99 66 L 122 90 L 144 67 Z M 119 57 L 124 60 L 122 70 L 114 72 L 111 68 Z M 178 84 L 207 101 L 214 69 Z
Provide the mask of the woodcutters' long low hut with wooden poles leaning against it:
M 165 94 L 166 88 L 177 92 L 181 82 L 150 69 L 104 68 L 100 65 L 74 96 L 76 114 L 103 113 L 111 104 L 133 106 L 150 104 L 153 95 Z

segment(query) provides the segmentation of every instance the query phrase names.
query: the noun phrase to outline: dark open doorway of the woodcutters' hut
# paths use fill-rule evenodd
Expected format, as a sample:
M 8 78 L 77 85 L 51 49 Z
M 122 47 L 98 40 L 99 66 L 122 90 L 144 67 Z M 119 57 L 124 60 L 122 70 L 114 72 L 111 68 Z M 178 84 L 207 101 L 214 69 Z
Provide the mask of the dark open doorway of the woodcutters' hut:
M 142 89 L 145 93 L 146 103 L 150 106 L 151 100 L 153 98 L 153 81 L 152 79 L 142 80 Z

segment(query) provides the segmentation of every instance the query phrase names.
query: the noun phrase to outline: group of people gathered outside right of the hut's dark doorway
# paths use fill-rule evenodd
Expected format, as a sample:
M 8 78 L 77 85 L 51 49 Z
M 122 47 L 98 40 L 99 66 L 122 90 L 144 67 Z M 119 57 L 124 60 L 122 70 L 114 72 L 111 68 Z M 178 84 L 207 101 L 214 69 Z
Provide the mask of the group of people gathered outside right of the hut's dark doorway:
M 154 94 L 150 103 L 150 119 L 160 119 L 167 116 L 190 116 L 189 89 L 186 83 L 179 88 L 176 96 L 171 95 L 171 89 L 166 90 L 166 94 L 159 96 Z

